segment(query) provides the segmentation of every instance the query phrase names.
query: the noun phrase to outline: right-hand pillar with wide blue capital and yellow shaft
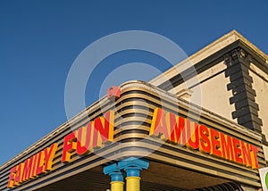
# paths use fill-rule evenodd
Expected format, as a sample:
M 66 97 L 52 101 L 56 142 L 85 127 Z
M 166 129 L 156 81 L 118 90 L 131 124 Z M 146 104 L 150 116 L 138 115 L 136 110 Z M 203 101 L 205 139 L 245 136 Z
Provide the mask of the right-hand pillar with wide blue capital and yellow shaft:
M 138 159 L 130 157 L 126 160 L 118 162 L 118 167 L 127 172 L 127 190 L 126 191 L 139 191 L 140 190 L 140 171 L 149 167 L 149 162 L 145 159 Z

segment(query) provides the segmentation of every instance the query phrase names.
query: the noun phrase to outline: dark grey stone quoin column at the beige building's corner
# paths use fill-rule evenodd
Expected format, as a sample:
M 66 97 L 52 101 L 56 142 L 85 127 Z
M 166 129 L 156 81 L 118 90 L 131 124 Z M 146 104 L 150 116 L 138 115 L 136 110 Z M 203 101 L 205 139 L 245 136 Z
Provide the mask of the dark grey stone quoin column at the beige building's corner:
M 255 103 L 255 90 L 252 87 L 253 79 L 249 76 L 249 66 L 252 56 L 238 47 L 223 56 L 227 66 L 225 77 L 230 78 L 227 89 L 232 91 L 230 104 L 235 104 L 236 111 L 232 118 L 237 119 L 240 125 L 261 132 L 263 121 L 258 116 L 259 106 Z

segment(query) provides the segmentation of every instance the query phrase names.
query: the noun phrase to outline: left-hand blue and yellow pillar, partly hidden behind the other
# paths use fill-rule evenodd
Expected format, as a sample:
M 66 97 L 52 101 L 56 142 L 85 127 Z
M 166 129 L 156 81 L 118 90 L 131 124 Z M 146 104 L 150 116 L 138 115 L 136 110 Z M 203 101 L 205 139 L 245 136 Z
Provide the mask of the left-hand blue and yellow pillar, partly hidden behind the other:
M 111 191 L 123 191 L 124 179 L 116 163 L 105 166 L 104 173 L 111 177 Z

